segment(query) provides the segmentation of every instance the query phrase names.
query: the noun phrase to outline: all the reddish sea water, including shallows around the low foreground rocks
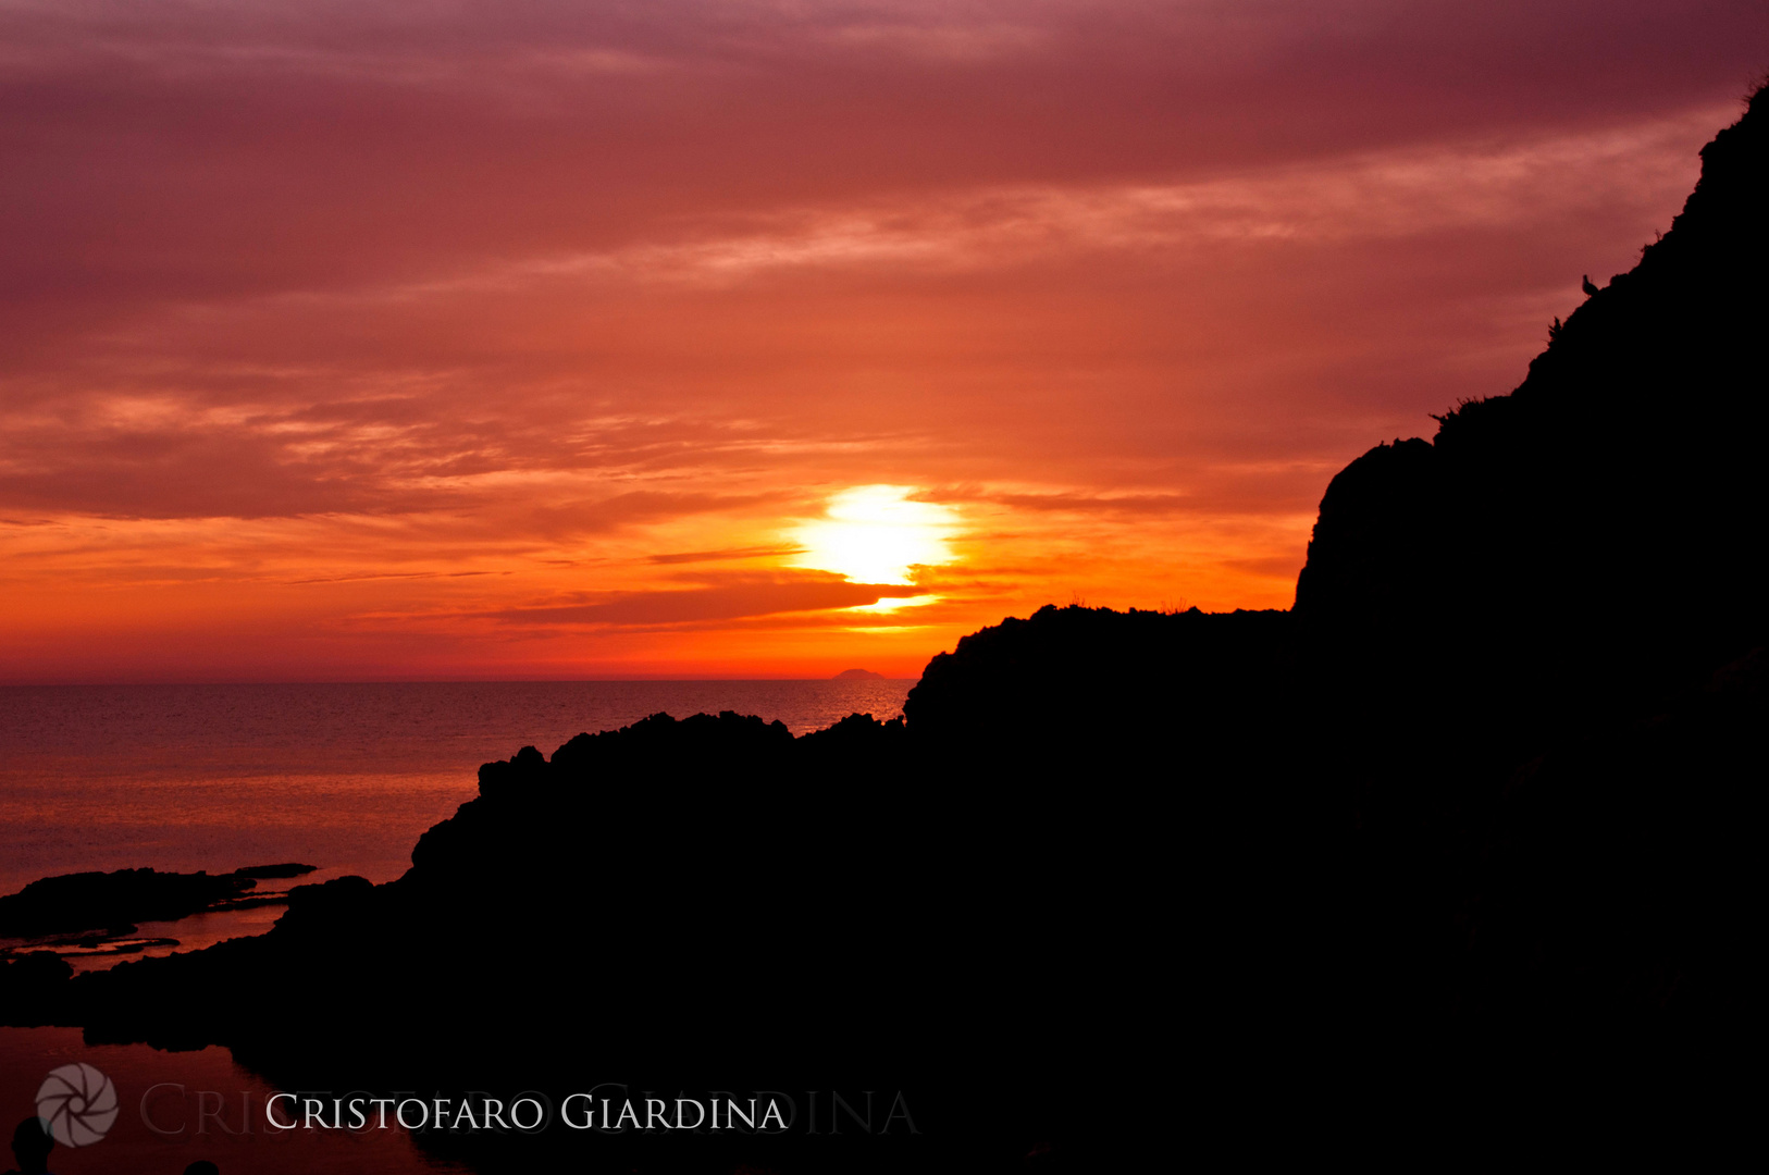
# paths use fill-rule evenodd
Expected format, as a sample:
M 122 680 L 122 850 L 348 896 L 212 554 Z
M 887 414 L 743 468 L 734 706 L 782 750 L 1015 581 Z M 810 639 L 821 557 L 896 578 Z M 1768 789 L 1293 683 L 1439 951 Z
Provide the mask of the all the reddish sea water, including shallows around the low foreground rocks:
M 522 747 L 552 754 L 584 731 L 653 713 L 761 715 L 794 734 L 849 713 L 902 713 L 911 680 L 494 681 L 348 685 L 0 687 L 0 894 L 65 872 L 154 867 L 232 872 L 301 862 L 391 881 L 428 826 L 478 793 L 478 768 Z M 58 947 L 78 970 L 260 934 L 276 904 L 142 924 L 129 954 Z M 18 943 L 0 941 L 0 947 Z M 0 1145 L 51 1072 L 90 1065 L 119 1115 L 103 1140 L 57 1147 L 50 1170 L 223 1175 L 469 1171 L 400 1129 L 267 1131 L 276 1090 L 223 1048 L 88 1046 L 78 1028 L 0 1028 Z M 216 1102 L 218 1095 L 223 1101 Z M 195 1099 L 203 1095 L 198 1104 Z M 225 1106 L 219 1117 L 203 1110 Z M 157 1117 L 156 1117 L 157 1115 Z M 180 1125 L 182 1133 L 172 1131 Z M 198 1127 L 203 1127 L 198 1131 Z M 249 1129 L 248 1129 L 249 1127 Z M 0 1166 L 9 1156 L 0 1154 Z

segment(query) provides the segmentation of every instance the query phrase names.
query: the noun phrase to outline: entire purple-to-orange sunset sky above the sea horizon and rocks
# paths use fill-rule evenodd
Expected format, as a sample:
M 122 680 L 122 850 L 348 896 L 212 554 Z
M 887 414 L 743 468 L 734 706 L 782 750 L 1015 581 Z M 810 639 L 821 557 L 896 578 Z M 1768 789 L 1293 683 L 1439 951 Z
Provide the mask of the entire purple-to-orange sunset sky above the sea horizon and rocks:
M 1288 607 L 1765 69 L 1758 0 L 0 0 L 0 681 Z

